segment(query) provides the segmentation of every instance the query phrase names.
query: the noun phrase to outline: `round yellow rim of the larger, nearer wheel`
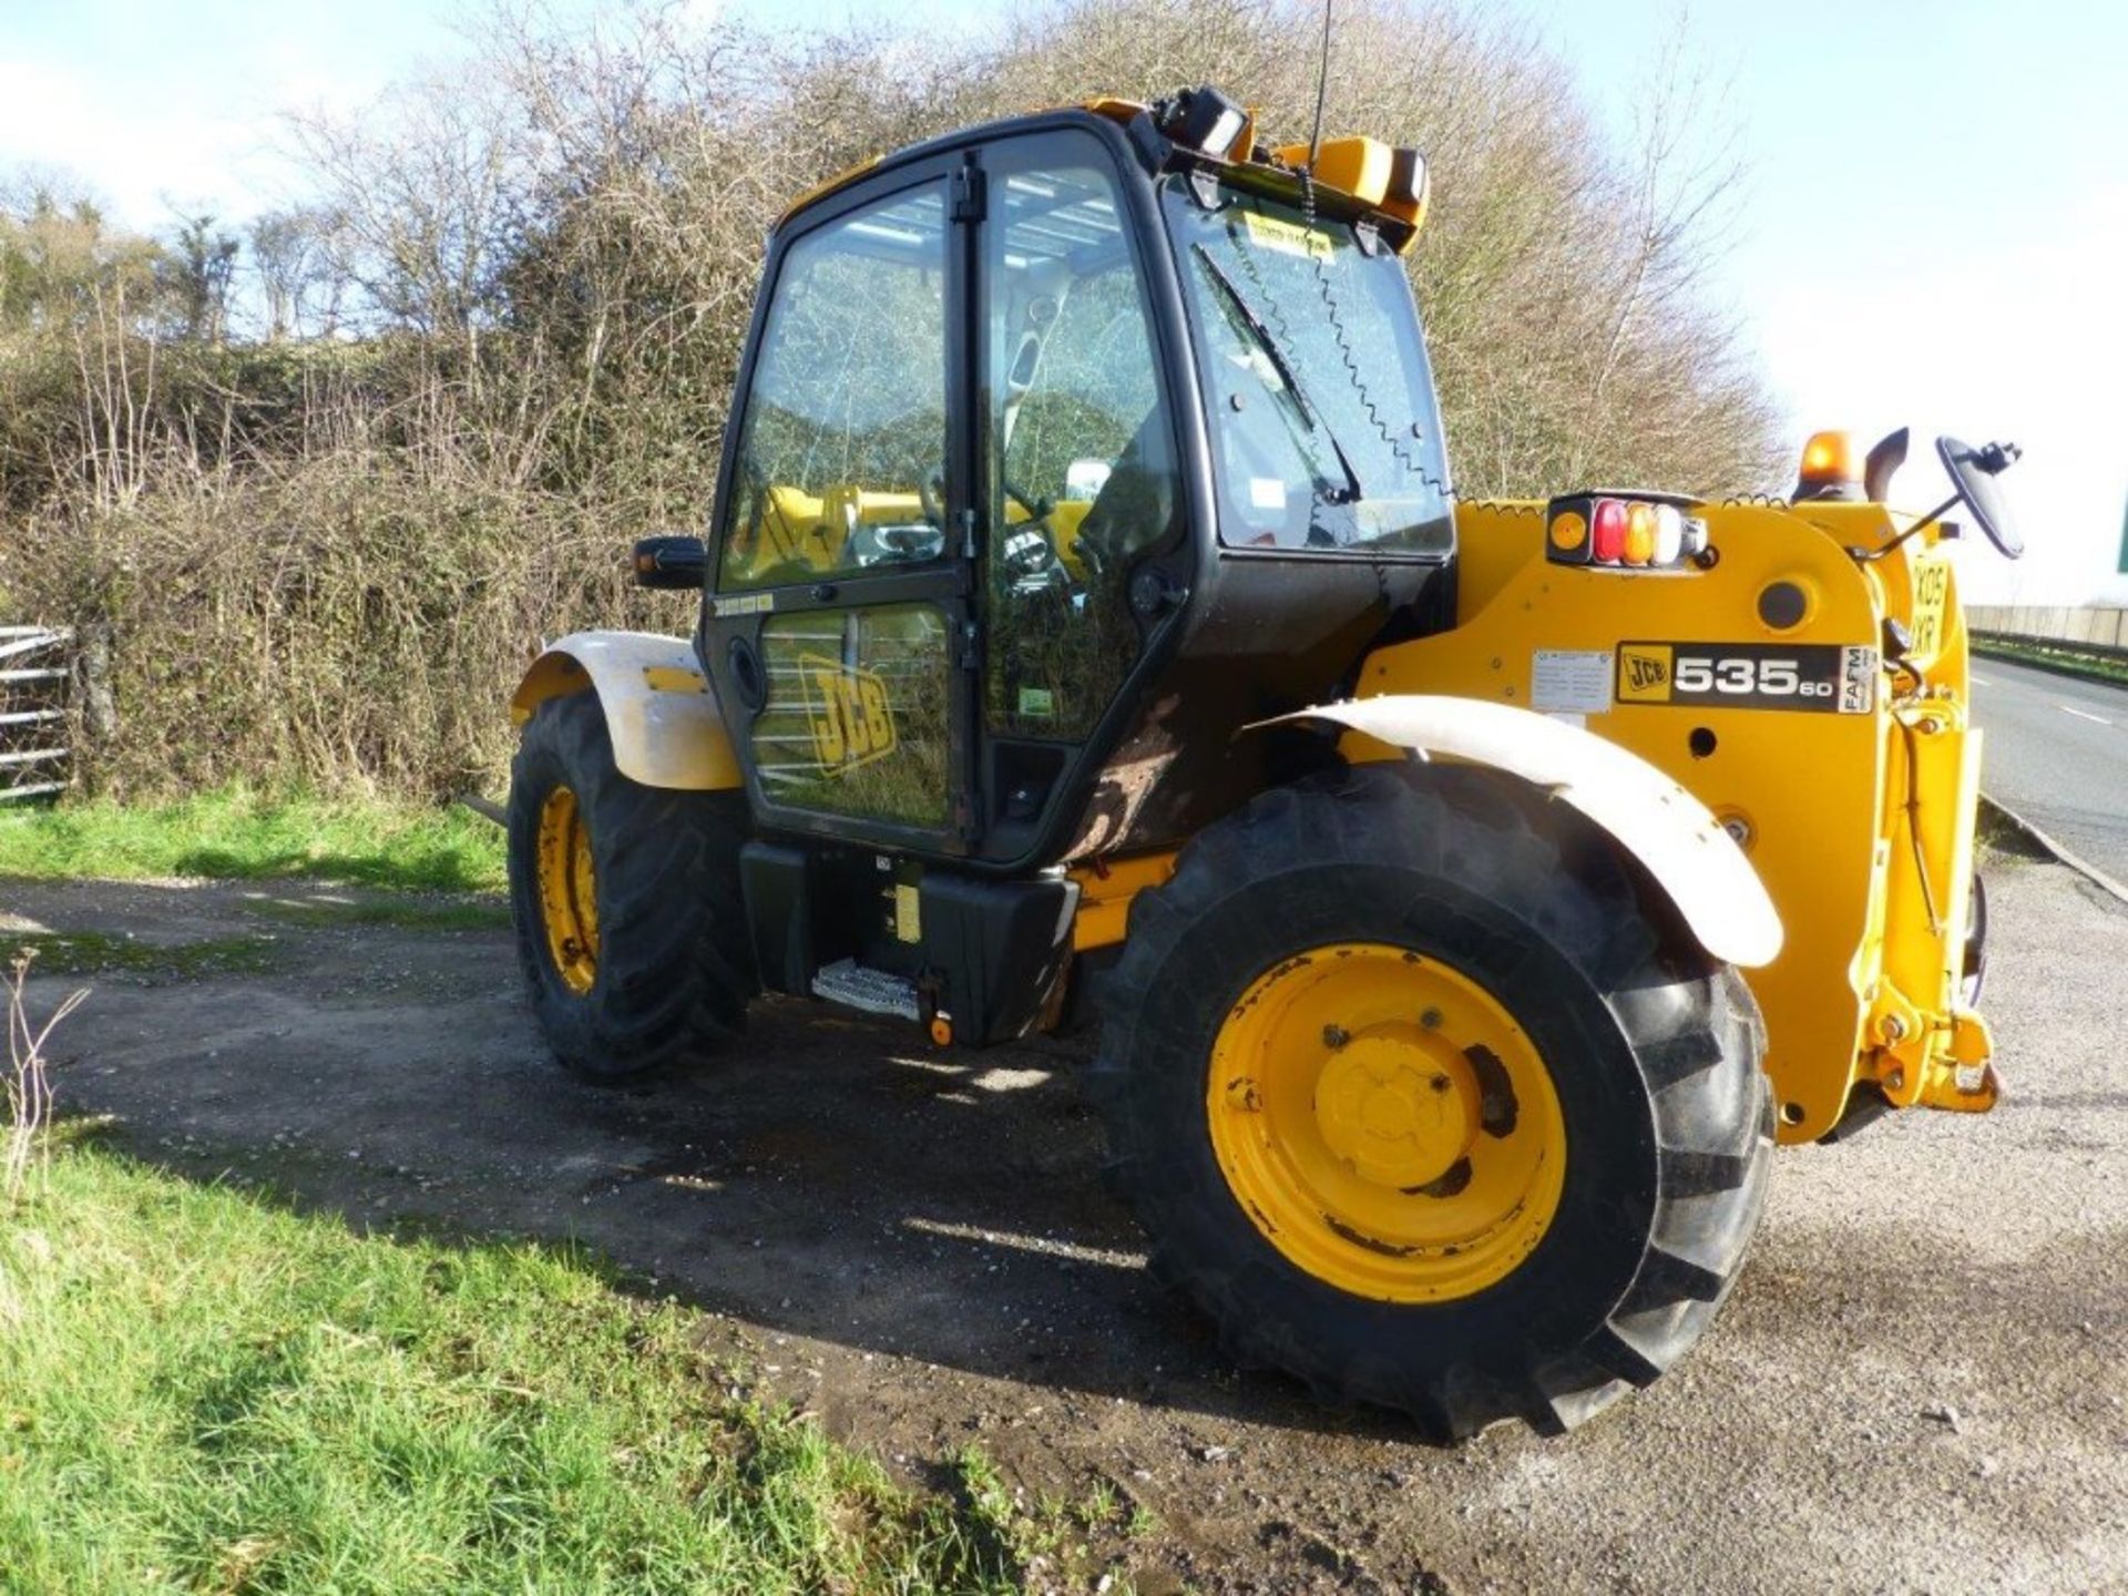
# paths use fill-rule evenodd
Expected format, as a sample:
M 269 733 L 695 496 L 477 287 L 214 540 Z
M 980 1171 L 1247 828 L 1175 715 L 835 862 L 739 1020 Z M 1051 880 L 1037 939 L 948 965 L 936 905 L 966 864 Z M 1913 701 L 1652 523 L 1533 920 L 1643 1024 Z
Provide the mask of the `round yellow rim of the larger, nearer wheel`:
M 1492 992 L 1404 947 L 1336 943 L 1260 975 L 1213 1043 L 1207 1111 L 1264 1238 L 1356 1296 L 1483 1292 L 1560 1207 L 1545 1060 Z

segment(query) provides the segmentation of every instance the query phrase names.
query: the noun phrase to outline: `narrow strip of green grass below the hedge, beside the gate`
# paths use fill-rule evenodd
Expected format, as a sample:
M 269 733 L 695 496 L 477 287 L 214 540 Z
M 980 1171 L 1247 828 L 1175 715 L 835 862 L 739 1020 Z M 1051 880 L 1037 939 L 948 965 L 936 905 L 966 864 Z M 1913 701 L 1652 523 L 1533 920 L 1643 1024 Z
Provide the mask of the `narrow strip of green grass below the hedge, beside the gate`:
M 415 892 L 504 883 L 502 830 L 466 809 L 266 798 L 219 787 L 177 802 L 94 800 L 0 813 L 0 875 L 315 877 Z

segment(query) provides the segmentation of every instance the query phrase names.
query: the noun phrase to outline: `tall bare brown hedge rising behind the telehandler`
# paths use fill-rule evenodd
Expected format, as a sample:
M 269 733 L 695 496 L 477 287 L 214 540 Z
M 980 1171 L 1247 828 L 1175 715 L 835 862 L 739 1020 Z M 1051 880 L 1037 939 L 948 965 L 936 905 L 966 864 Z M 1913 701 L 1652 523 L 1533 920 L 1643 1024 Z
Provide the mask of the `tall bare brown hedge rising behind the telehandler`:
M 498 13 L 447 83 L 292 128 L 336 338 L 157 343 L 115 247 L 72 309 L 0 328 L 0 606 L 113 638 L 106 787 L 494 785 L 543 636 L 692 619 L 621 553 L 706 509 L 783 204 L 1096 92 L 1217 81 L 1300 140 L 1319 15 L 1066 0 L 970 49 Z M 1696 294 L 1730 172 L 1679 168 L 1690 85 L 1651 104 L 1619 149 L 1517 23 L 1339 6 L 1328 130 L 1432 160 L 1413 279 L 1468 496 L 1768 479 L 1766 396 Z

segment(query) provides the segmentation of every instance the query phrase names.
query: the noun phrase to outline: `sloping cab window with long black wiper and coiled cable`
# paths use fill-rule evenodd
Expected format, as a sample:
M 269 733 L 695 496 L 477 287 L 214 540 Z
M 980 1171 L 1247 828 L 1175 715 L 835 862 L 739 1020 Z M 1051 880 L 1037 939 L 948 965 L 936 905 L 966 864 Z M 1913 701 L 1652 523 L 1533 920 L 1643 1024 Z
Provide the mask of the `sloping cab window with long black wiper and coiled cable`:
M 1434 381 L 1404 268 L 1330 217 L 1185 181 L 1162 204 L 1198 340 L 1219 538 L 1326 553 L 1447 553 Z

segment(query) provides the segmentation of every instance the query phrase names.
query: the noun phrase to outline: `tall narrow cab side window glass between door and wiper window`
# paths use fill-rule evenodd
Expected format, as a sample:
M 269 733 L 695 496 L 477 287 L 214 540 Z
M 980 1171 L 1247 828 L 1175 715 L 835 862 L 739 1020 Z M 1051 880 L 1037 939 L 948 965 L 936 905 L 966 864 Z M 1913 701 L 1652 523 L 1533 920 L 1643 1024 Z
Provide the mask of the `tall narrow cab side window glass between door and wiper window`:
M 1175 530 L 1170 417 L 1100 147 L 1000 151 L 990 198 L 983 698 L 994 730 L 1077 741 L 1138 655 L 1128 579 Z

